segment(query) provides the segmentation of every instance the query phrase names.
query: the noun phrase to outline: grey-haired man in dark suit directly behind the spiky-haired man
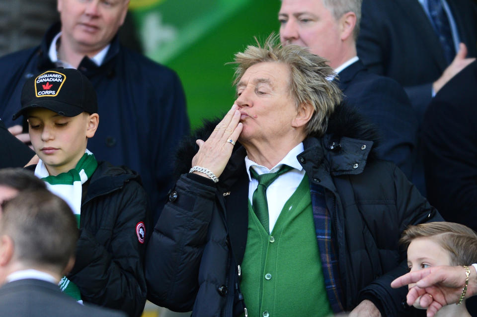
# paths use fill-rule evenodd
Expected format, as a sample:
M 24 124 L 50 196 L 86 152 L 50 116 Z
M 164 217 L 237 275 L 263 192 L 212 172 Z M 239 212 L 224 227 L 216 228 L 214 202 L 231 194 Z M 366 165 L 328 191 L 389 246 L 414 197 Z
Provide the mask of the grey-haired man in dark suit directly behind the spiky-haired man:
M 417 119 L 402 87 L 368 72 L 357 58 L 360 16 L 361 0 L 282 0 L 280 38 L 283 44 L 308 47 L 329 61 L 348 106 L 380 128 L 383 141 L 378 154 L 409 178 Z

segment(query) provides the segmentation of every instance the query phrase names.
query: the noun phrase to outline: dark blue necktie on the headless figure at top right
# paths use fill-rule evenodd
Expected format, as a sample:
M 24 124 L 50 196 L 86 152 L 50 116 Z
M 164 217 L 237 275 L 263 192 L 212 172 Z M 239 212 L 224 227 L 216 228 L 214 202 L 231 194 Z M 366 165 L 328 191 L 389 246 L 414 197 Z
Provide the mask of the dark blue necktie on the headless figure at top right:
M 431 23 L 434 31 L 439 38 L 444 55 L 448 63 L 451 63 L 456 56 L 454 41 L 452 39 L 451 25 L 447 18 L 447 13 L 441 0 L 427 0 L 427 8 L 431 17 Z

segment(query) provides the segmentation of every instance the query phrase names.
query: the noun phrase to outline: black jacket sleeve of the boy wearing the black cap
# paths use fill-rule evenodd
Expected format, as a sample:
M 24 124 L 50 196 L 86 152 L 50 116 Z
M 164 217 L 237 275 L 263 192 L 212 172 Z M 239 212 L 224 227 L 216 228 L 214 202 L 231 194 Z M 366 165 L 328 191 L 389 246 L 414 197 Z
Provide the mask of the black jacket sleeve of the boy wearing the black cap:
M 105 235 L 111 237 L 109 247 L 103 245 L 105 241 L 96 238 L 101 235 L 101 230 L 109 228 L 99 225 L 98 234 L 93 235 L 81 225 L 76 263 L 68 278 L 79 287 L 85 302 L 139 317 L 146 303 L 147 291 L 143 270 L 145 244 L 140 242 L 136 229 L 148 217 L 147 196 L 138 182 L 130 181 L 114 198 L 117 204 L 112 205 L 118 210 L 112 234 Z M 101 208 L 101 205 L 95 208 Z M 111 210 L 104 214 L 108 217 L 115 212 Z

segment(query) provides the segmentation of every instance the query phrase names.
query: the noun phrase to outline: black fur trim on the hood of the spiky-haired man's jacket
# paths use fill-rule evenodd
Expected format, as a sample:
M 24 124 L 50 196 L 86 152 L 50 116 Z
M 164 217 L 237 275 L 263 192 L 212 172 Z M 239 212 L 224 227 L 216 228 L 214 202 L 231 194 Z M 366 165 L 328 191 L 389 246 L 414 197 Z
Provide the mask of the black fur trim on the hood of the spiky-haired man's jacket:
M 174 174 L 176 178 L 181 174 L 189 172 L 192 158 L 199 150 L 195 141 L 197 139 L 207 140 L 220 121 L 220 118 L 204 120 L 202 127 L 197 128 L 191 133 L 191 135 L 182 139 L 175 154 Z M 344 102 L 337 106 L 333 114 L 330 116 L 325 135 L 319 136 L 312 134 L 309 136 L 326 138 L 328 140 L 327 143 L 329 143 L 327 144 L 328 149 L 335 152 L 339 151 L 340 140 L 343 137 L 372 141 L 373 148 L 367 157 L 368 161 L 376 159 L 377 154 L 374 149 L 380 142 L 380 135 L 377 128 L 360 115 L 357 110 L 347 106 Z M 239 148 L 241 148 L 241 146 L 237 144 L 237 146 L 234 147 L 234 152 Z

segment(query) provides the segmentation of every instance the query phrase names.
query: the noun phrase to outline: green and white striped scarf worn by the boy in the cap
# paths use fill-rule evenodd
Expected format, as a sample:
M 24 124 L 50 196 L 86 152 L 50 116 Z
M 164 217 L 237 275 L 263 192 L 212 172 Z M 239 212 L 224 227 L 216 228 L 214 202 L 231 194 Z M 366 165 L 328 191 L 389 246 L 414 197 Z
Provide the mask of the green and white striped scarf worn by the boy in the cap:
M 69 172 L 61 173 L 57 176 L 50 176 L 42 160 L 38 162 L 35 168 L 35 176 L 46 182 L 48 190 L 68 203 L 76 216 L 78 228 L 81 213 L 82 184 L 93 175 L 97 167 L 98 162 L 94 158 L 93 153 L 86 149 L 86 152 L 79 159 L 76 167 Z M 66 276 L 63 276 L 59 286 L 65 294 L 72 296 L 78 302 L 82 303 L 78 286 L 66 278 Z

